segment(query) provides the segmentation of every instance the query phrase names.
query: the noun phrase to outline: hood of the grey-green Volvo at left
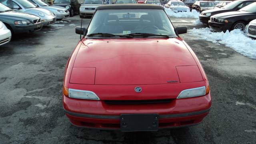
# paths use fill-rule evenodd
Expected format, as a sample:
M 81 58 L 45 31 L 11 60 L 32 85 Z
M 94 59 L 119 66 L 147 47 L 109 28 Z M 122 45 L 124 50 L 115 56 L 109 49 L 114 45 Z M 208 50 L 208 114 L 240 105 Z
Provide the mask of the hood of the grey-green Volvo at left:
M 1 20 L 4 18 L 12 18 L 14 20 L 36 20 L 39 19 L 38 16 L 33 14 L 23 13 L 23 12 L 1 12 Z M 3 20 L 4 21 L 4 20 Z

